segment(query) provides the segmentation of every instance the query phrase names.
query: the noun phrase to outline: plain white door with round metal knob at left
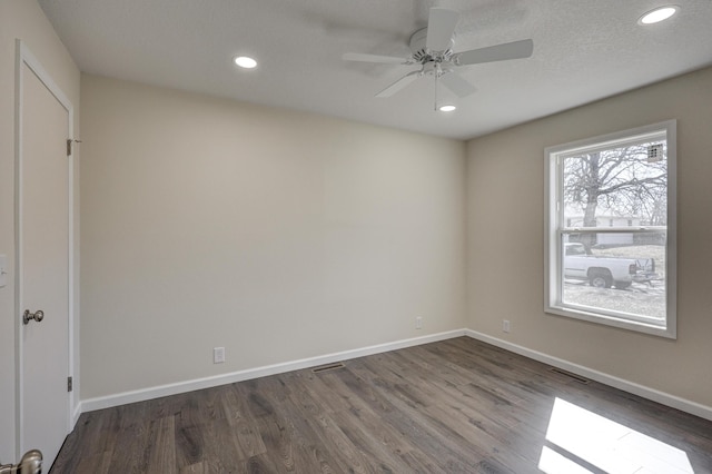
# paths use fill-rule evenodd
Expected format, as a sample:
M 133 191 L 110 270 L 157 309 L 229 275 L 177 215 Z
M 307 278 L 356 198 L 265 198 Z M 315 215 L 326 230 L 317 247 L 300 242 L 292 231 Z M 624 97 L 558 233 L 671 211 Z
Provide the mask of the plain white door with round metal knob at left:
M 26 51 L 29 55 L 29 51 Z M 49 471 L 69 431 L 70 110 L 39 65 L 19 61 L 18 277 L 21 452 Z M 30 57 L 31 58 L 31 57 Z M 41 320 L 22 320 L 24 312 Z M 37 317 L 39 319 L 39 317 Z

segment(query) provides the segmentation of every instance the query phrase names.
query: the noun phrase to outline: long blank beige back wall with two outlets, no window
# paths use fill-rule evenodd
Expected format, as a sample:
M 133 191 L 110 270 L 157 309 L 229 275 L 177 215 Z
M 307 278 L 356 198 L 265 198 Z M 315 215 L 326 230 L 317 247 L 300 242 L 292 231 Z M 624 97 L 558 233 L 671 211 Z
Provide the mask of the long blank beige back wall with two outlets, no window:
M 463 327 L 464 142 L 81 93 L 82 398 Z

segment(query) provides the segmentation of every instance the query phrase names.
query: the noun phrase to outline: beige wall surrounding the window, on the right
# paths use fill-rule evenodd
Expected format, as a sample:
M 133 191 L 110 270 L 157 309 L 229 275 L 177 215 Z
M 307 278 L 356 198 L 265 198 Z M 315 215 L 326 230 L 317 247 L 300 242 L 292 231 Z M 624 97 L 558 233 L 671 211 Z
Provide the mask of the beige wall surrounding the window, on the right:
M 544 148 L 678 119 L 678 340 L 546 315 Z M 467 144 L 468 327 L 712 406 L 712 69 Z M 502 332 L 502 319 L 512 332 Z

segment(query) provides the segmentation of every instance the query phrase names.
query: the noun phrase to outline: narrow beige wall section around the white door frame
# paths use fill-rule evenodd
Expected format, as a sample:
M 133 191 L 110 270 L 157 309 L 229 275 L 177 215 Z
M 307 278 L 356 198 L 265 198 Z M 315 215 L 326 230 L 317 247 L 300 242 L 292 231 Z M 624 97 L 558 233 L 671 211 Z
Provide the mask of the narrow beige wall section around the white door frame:
M 79 132 L 79 70 L 34 0 L 0 1 L 0 254 L 10 263 L 0 288 L 0 462 L 16 461 L 14 445 L 14 61 L 16 38 L 24 41 L 75 106 Z M 77 167 L 78 168 L 78 167 Z M 18 316 L 19 317 L 19 316 Z M 77 357 L 78 359 L 78 357 Z

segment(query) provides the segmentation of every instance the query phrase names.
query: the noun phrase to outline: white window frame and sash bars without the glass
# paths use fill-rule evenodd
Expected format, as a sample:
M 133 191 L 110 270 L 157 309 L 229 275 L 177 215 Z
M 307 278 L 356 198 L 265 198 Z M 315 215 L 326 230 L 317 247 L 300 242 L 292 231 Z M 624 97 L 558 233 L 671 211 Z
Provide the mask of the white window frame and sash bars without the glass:
M 562 264 L 562 229 L 564 228 L 562 208 L 562 157 L 572 156 L 578 151 L 590 151 L 600 146 L 605 149 L 615 146 L 617 141 L 624 141 L 634 137 L 645 137 L 664 131 L 668 141 L 668 226 L 666 226 L 666 255 L 665 255 L 665 319 L 663 324 L 652 318 L 645 319 L 626 316 L 622 313 L 609 312 L 599 308 L 580 307 L 563 303 L 563 264 Z M 545 178 L 546 178 L 546 209 L 544 228 L 544 312 L 558 316 L 566 316 L 607 326 L 652 334 L 656 336 L 676 338 L 678 336 L 678 285 L 676 285 L 676 247 L 678 247 L 678 174 L 676 174 L 676 120 L 668 120 L 630 130 L 619 131 L 594 138 L 573 141 L 570 144 L 547 147 L 544 150 Z M 581 230 L 605 231 L 617 228 L 582 228 Z M 617 229 L 621 230 L 621 229 Z M 644 233 L 650 228 L 625 227 L 626 231 Z

